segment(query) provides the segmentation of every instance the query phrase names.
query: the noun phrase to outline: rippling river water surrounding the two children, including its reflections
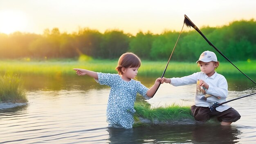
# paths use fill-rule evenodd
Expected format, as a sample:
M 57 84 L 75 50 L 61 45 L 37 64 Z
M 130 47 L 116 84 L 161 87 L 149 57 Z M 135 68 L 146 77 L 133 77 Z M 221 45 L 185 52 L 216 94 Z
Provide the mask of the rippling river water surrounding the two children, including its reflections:
M 254 78 L 255 79 L 255 78 Z M 130 130 L 107 128 L 106 104 L 110 88 L 87 76 L 24 77 L 29 103 L 0 110 L 0 144 L 254 144 L 256 95 L 230 102 L 242 116 L 231 126 L 173 124 Z M 150 87 L 155 78 L 138 78 Z M 256 92 L 244 77 L 227 78 L 229 97 Z M 195 85 L 162 84 L 147 102 L 152 107 L 173 103 L 191 106 Z M 144 101 L 138 95 L 138 101 Z

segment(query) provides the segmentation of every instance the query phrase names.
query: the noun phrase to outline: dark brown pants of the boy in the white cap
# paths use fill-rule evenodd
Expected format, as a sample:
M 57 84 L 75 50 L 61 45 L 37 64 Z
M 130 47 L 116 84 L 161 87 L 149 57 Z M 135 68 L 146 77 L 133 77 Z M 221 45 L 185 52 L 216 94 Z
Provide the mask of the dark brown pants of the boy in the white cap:
M 206 122 L 211 117 L 217 117 L 220 122 L 236 122 L 241 117 L 241 115 L 233 108 L 229 108 L 222 112 L 211 112 L 209 107 L 193 105 L 190 107 L 190 109 L 195 120 L 202 122 Z

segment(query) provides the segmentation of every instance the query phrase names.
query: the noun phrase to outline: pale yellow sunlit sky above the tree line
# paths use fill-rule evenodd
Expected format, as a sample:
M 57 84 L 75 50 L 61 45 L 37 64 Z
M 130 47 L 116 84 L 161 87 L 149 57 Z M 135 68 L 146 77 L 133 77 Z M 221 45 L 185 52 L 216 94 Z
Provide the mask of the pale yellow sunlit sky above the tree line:
M 184 14 L 200 27 L 256 20 L 256 0 L 0 0 L 0 33 L 89 28 L 160 34 L 180 31 Z M 184 29 L 189 30 L 189 28 Z

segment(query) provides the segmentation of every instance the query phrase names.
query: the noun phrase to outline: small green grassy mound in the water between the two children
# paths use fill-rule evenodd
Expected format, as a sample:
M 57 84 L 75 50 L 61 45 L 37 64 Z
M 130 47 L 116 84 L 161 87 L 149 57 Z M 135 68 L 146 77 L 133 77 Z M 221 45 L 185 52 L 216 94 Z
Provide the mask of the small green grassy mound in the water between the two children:
M 133 118 L 133 127 L 173 124 L 202 124 L 195 121 L 189 106 L 170 105 L 158 108 L 150 108 L 150 104 L 135 102 L 136 110 Z M 211 118 L 206 124 L 218 124 L 216 117 Z

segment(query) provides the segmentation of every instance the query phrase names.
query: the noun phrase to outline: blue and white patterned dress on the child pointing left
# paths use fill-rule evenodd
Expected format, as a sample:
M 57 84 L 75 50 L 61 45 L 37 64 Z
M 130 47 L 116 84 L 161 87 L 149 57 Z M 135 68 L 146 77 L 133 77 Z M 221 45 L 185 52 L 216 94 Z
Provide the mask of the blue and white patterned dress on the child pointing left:
M 126 82 L 118 74 L 97 74 L 99 84 L 111 87 L 106 113 L 108 126 L 132 128 L 136 95 L 139 93 L 148 99 L 146 96 L 148 88 L 133 79 Z

